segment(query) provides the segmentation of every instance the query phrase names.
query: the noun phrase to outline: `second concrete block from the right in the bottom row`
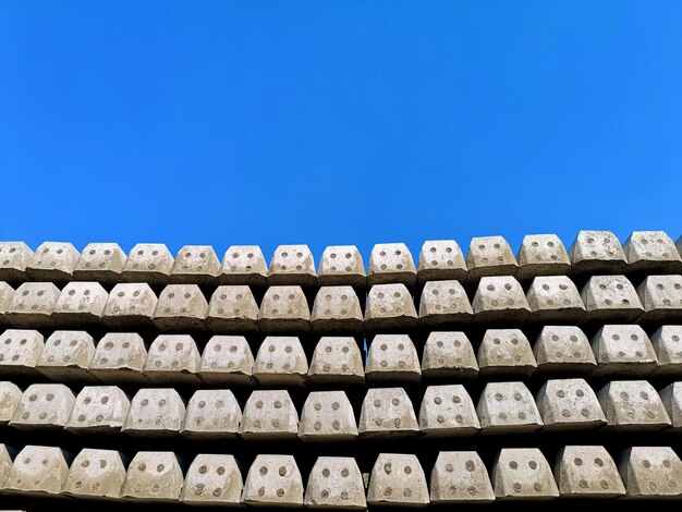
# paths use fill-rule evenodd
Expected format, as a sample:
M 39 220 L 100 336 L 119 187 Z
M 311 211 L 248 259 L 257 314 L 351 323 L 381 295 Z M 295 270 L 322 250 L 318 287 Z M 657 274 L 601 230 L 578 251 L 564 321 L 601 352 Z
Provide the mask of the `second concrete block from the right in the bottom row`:
M 568 446 L 556 461 L 555 478 L 562 498 L 617 498 L 625 493 L 618 467 L 604 447 Z

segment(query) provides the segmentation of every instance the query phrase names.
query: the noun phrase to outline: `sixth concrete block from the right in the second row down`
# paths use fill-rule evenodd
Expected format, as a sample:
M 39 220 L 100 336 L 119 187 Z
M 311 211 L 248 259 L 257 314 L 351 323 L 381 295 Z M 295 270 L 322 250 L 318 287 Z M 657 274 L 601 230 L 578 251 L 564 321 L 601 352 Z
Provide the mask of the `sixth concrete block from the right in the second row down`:
M 372 287 L 365 308 L 365 329 L 410 329 L 417 325 L 417 312 L 404 284 Z

